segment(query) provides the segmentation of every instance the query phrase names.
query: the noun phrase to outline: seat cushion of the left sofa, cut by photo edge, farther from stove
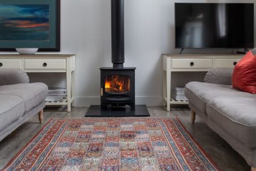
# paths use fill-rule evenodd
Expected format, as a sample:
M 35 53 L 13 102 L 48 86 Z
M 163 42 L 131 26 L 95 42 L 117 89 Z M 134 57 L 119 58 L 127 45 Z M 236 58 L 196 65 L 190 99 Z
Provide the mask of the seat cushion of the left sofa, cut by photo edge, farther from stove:
M 0 95 L 0 130 L 24 114 L 24 102 L 17 96 Z

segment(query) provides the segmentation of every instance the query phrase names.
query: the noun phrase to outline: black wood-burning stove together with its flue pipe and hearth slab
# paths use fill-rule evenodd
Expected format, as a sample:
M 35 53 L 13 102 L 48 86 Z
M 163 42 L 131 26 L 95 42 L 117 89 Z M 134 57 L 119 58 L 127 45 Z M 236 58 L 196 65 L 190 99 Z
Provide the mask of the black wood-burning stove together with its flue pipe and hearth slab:
M 136 68 L 124 67 L 124 0 L 111 0 L 111 30 L 113 67 L 100 68 L 101 106 L 90 106 L 86 117 L 150 116 L 147 106 L 135 106 Z

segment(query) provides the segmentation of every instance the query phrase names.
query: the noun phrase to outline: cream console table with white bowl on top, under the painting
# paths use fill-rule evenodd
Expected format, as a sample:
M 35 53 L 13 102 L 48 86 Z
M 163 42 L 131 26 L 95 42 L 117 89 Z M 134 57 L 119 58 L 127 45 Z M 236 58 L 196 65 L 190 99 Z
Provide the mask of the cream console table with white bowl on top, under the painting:
M 66 73 L 67 99 L 47 102 L 46 106 L 71 104 L 75 97 L 75 55 L 0 55 L 1 69 L 21 69 L 27 73 Z

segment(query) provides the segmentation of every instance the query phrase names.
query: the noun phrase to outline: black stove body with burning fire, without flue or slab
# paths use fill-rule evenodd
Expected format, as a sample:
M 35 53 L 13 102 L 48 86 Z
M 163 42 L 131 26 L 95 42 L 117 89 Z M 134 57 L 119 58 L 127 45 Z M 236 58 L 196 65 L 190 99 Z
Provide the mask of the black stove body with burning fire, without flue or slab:
M 100 68 L 101 108 L 130 106 L 135 109 L 135 68 Z

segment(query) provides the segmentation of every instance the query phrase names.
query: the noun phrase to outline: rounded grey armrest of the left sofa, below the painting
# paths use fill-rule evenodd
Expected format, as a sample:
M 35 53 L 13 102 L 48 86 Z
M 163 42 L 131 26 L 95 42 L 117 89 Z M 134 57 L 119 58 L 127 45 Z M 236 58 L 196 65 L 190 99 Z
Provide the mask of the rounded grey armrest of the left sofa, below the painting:
M 19 83 L 29 83 L 29 76 L 20 69 L 4 69 L 0 70 L 0 86 L 15 85 Z

